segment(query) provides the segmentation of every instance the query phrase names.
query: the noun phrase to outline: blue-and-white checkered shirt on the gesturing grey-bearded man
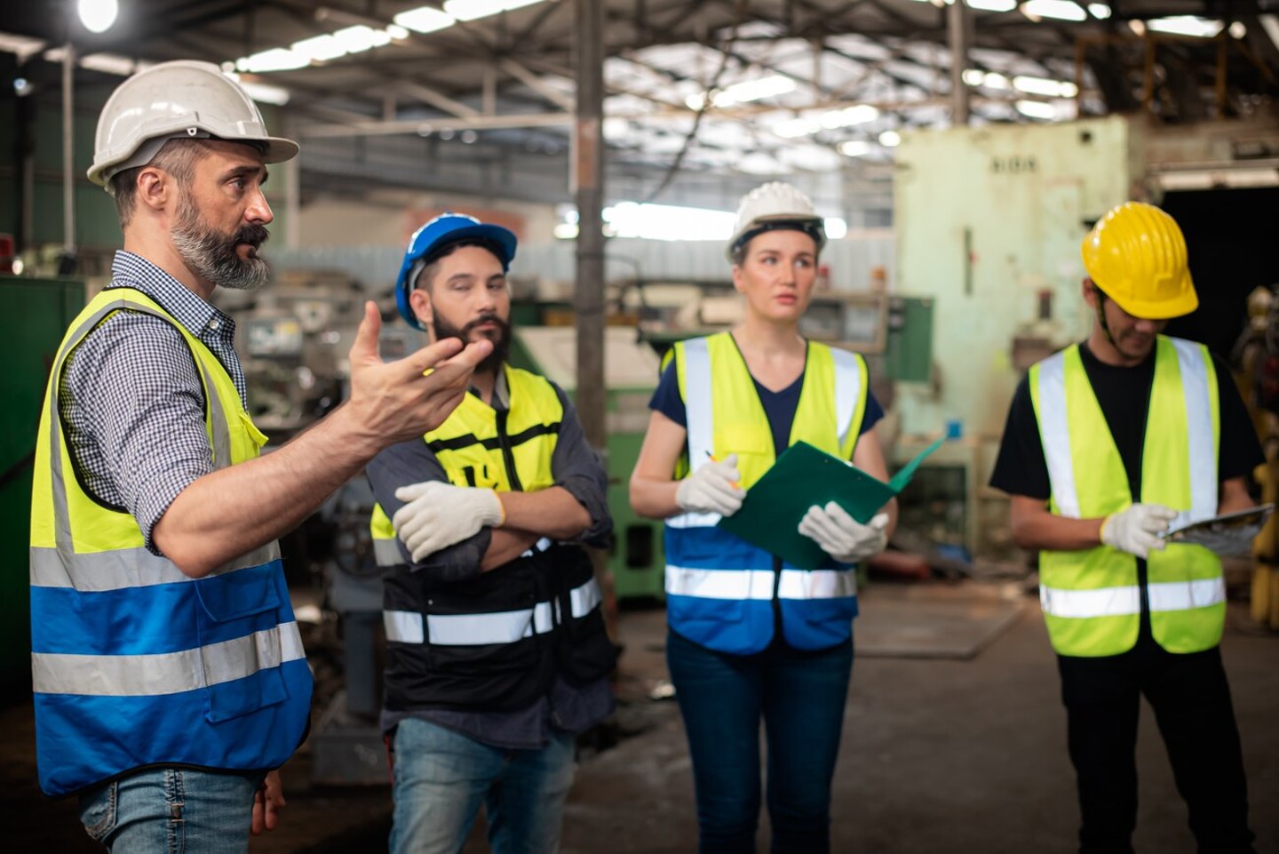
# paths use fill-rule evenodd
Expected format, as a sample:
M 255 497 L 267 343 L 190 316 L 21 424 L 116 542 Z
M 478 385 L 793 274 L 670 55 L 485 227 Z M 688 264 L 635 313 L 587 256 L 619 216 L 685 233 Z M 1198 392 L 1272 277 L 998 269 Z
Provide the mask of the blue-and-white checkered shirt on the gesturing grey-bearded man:
M 246 402 L 234 320 L 132 252 L 116 252 L 111 274 L 109 287 L 141 291 L 202 341 Z M 159 553 L 151 529 L 178 493 L 214 470 L 205 392 L 182 333 L 148 314 L 113 314 L 68 357 L 58 407 L 86 490 L 132 513 Z

